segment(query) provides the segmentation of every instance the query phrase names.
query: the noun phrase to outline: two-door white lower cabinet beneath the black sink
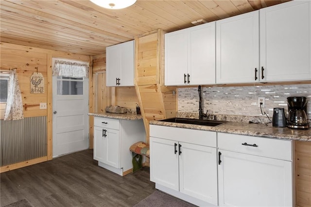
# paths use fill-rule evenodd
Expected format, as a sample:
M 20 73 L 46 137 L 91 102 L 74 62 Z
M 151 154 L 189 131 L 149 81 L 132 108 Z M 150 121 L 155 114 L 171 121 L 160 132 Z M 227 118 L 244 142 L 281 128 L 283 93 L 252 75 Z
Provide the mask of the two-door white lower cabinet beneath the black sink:
M 174 190 L 168 193 L 199 206 L 217 206 L 216 161 L 215 132 L 150 125 L 150 180 L 156 188 Z

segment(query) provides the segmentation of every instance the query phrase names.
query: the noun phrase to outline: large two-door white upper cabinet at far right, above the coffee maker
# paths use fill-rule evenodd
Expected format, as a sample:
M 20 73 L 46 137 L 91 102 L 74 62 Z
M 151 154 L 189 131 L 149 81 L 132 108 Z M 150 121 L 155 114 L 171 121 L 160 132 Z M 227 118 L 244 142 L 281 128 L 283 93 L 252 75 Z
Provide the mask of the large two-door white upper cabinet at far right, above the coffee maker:
M 216 21 L 217 84 L 310 79 L 311 1 Z

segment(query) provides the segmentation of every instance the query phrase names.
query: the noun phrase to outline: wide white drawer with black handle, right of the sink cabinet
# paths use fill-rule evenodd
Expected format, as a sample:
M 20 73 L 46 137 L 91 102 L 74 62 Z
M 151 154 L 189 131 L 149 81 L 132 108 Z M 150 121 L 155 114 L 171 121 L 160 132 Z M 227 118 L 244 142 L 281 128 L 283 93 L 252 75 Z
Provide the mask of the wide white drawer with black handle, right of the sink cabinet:
M 250 155 L 292 160 L 292 141 L 217 133 L 218 148 Z M 243 144 L 256 144 L 248 146 Z

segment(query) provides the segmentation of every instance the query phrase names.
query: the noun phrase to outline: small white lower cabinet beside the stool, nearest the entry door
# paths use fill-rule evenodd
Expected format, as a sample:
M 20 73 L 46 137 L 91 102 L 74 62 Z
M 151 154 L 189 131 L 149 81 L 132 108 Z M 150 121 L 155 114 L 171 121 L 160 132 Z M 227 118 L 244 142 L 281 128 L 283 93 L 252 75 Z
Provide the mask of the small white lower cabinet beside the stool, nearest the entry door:
M 131 173 L 132 153 L 129 148 L 145 141 L 142 120 L 94 118 L 93 158 L 98 165 L 119 175 Z

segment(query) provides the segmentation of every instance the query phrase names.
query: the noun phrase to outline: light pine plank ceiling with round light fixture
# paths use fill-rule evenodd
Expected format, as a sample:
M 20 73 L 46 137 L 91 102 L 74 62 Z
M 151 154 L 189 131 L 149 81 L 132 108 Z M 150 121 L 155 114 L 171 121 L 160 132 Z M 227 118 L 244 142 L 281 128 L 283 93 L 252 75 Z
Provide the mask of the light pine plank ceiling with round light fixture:
M 0 0 L 0 40 L 86 55 L 155 29 L 172 32 L 288 0 L 138 0 L 109 10 L 89 0 Z

